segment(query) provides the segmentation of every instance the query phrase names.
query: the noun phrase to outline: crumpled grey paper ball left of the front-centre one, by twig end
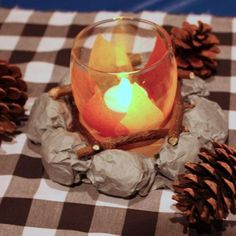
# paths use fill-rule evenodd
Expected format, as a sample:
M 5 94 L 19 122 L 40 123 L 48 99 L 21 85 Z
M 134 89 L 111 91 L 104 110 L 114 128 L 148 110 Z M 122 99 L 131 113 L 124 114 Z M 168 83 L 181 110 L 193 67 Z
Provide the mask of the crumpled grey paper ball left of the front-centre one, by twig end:
M 42 163 L 50 179 L 63 185 L 80 182 L 80 174 L 89 169 L 91 160 L 78 160 L 75 150 L 84 147 L 79 134 L 63 128 L 48 129 L 42 135 Z

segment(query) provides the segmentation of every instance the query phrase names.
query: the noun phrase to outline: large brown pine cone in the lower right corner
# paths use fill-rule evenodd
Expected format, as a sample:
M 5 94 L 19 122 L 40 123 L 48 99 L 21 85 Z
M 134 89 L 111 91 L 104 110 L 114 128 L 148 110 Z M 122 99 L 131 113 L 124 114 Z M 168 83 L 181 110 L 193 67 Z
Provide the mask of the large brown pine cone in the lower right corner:
M 236 149 L 213 143 L 215 152 L 204 150 L 199 163 L 186 163 L 188 173 L 173 184 L 176 207 L 189 223 L 221 221 L 236 213 Z

